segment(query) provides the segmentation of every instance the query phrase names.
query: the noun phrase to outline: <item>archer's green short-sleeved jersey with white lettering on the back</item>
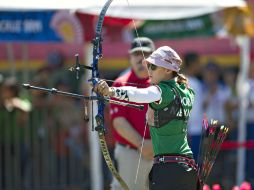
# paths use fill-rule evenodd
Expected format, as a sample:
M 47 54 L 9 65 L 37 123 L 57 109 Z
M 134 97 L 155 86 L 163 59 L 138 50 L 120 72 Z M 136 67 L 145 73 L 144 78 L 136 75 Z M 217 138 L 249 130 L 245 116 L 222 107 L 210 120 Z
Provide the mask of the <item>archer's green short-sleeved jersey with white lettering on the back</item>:
M 192 151 L 187 141 L 187 120 L 194 102 L 194 91 L 191 88 L 187 88 L 185 84 L 179 85 L 175 80 L 160 82 L 158 87 L 161 90 L 161 100 L 150 103 L 147 114 L 154 154 L 183 154 L 192 156 Z M 172 101 L 176 97 L 180 98 L 179 102 L 181 102 L 181 109 L 178 109 L 176 114 L 178 118 L 175 117 L 162 126 L 152 127 L 149 117 L 151 119 L 152 116 L 152 120 L 155 120 L 154 113 L 172 105 Z M 183 112 L 184 117 L 182 117 Z M 163 117 L 165 120 L 169 116 L 164 114 Z

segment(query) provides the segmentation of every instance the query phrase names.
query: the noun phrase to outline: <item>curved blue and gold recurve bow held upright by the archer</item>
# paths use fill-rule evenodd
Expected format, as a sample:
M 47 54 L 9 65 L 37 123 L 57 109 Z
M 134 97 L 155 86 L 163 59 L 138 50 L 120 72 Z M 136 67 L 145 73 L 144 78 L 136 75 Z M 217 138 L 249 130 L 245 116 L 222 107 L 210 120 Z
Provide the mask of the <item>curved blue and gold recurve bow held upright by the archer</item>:
M 92 64 L 92 83 L 93 85 L 96 85 L 97 80 L 96 78 L 99 78 L 99 70 L 98 70 L 98 62 L 99 59 L 102 57 L 102 37 L 101 37 L 101 32 L 102 32 L 102 24 L 104 21 L 105 14 L 107 12 L 108 7 L 112 3 L 113 0 L 107 0 L 105 5 L 103 6 L 98 21 L 96 25 L 96 30 L 95 30 L 95 38 L 93 40 L 93 64 Z M 96 93 L 96 96 L 100 97 L 98 93 Z M 109 151 L 108 151 L 108 146 L 105 140 L 105 127 L 104 127 L 104 107 L 105 103 L 103 101 L 98 101 L 98 113 L 95 116 L 95 120 L 97 123 L 97 127 L 95 128 L 96 131 L 98 131 L 99 135 L 99 142 L 100 142 L 100 147 L 101 151 L 103 154 L 103 157 L 108 165 L 109 170 L 113 174 L 113 176 L 118 180 L 119 184 L 122 186 L 124 190 L 129 190 L 127 184 L 125 181 L 122 179 L 118 171 L 116 170 L 113 161 L 110 157 Z M 93 112 L 93 111 L 92 111 Z

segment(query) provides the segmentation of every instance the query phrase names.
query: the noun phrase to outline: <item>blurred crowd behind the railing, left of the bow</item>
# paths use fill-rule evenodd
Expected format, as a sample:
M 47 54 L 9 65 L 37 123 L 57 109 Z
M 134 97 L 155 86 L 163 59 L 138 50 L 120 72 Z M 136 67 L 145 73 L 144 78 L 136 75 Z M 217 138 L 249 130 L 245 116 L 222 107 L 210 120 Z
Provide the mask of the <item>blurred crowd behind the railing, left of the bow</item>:
M 74 91 L 60 53 L 49 54 L 31 85 Z M 83 102 L 25 91 L 16 77 L 1 75 L 0 189 L 90 188 Z

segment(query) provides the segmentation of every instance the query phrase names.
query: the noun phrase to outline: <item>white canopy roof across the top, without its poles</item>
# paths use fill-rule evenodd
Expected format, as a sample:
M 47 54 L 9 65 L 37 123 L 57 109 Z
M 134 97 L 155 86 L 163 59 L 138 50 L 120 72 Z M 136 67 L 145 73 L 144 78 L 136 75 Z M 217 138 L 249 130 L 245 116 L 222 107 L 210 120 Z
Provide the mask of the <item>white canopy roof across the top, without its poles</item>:
M 0 10 L 78 10 L 99 14 L 105 0 L 1 0 Z M 245 6 L 243 0 L 114 0 L 108 16 L 133 19 L 180 19 L 209 14 L 229 7 Z

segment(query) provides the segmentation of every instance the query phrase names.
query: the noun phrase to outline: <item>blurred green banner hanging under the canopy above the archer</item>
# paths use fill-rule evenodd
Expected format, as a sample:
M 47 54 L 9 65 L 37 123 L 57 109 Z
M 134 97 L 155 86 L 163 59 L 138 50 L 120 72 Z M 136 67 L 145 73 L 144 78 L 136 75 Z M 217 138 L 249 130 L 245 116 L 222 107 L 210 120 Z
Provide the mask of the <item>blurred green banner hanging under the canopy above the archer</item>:
M 180 20 L 149 20 L 138 29 L 140 36 L 152 39 L 177 39 L 213 36 L 215 31 L 209 15 Z

